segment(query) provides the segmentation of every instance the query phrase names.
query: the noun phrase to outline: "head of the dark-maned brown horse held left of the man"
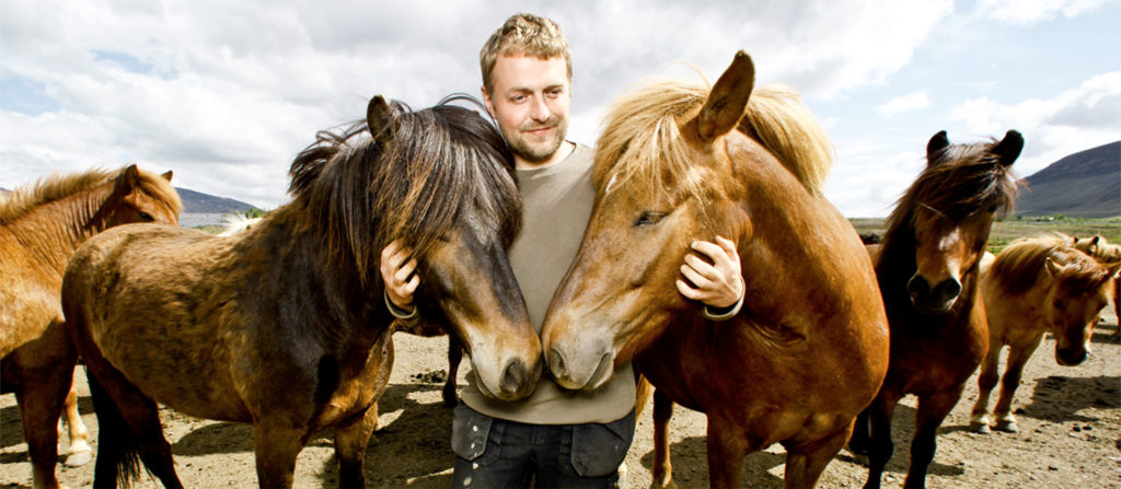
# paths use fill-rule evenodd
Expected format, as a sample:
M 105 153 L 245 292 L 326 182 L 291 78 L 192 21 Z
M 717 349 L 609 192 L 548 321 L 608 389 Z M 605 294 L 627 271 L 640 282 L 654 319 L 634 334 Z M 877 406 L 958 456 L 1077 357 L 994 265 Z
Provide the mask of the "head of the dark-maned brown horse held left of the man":
M 408 175 L 396 179 L 408 188 L 382 188 L 377 206 L 393 210 L 386 229 L 419 258 L 417 307 L 461 340 L 484 394 L 528 396 L 540 377 L 541 349 L 506 255 L 521 217 L 512 157 L 474 111 L 442 103 L 395 112 L 374 97 L 367 123 L 391 164 L 404 166 L 393 171 Z

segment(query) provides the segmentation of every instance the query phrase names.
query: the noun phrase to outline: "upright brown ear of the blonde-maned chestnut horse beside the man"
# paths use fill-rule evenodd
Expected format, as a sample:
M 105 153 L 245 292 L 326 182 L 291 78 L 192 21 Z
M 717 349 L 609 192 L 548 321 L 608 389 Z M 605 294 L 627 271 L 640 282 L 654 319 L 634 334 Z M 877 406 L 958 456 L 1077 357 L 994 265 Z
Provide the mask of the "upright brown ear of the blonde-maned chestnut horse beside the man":
M 697 114 L 697 134 L 702 141 L 711 142 L 740 123 L 748 111 L 748 98 L 754 84 L 756 65 L 751 63 L 751 56 L 740 50 L 732 65 L 720 75 Z

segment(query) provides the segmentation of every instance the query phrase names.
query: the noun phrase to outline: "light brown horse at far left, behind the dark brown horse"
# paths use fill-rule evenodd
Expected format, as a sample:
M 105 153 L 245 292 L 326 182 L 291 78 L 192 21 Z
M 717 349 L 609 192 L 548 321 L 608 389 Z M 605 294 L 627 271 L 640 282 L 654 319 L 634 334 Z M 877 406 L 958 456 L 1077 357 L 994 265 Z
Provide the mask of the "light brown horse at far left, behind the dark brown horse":
M 73 389 L 76 352 L 58 301 L 67 260 L 91 236 L 126 223 L 176 225 L 183 205 L 172 172 L 136 164 L 54 175 L 0 203 L 0 385 L 16 393 L 35 487 L 58 487 L 59 415 L 70 425 L 70 466 L 90 461 Z

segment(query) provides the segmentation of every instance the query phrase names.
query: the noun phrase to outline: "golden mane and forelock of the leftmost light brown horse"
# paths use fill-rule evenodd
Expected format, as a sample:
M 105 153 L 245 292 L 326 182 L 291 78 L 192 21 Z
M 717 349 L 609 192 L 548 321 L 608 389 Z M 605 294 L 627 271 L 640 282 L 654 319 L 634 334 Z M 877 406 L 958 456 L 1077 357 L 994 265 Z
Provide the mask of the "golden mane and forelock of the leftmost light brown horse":
M 106 170 L 94 168 L 80 173 L 62 175 L 55 173 L 40 178 L 33 185 L 17 188 L 8 196 L 8 199 L 0 201 L 0 222 L 12 222 L 36 207 L 62 200 L 67 197 L 87 192 L 96 187 L 115 180 L 124 172 L 124 169 Z M 151 198 L 163 201 L 176 214 L 183 210 L 183 203 L 178 192 L 163 177 L 140 170 L 140 190 Z

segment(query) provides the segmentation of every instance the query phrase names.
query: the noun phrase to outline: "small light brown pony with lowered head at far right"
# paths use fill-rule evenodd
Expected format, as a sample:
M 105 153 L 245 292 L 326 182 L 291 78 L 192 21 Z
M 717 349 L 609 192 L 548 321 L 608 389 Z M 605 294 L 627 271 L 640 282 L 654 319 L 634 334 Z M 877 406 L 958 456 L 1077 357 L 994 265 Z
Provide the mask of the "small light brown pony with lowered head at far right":
M 1067 236 L 1017 239 L 997 255 L 981 275 L 981 292 L 989 317 L 989 355 L 978 377 L 980 394 L 970 425 L 988 433 L 1017 432 L 1012 397 L 1023 366 L 1039 347 L 1044 333 L 1055 336 L 1055 361 L 1082 364 L 1102 308 L 1113 290 L 1113 275 L 1121 263 L 1101 265 L 1071 246 Z M 989 419 L 989 395 L 1000 375 L 1000 351 L 1009 347 L 1000 398 Z

